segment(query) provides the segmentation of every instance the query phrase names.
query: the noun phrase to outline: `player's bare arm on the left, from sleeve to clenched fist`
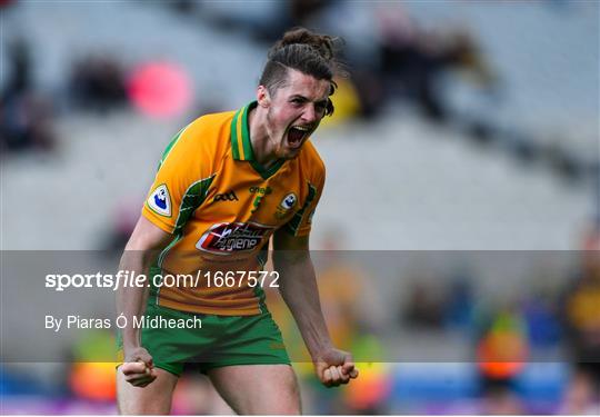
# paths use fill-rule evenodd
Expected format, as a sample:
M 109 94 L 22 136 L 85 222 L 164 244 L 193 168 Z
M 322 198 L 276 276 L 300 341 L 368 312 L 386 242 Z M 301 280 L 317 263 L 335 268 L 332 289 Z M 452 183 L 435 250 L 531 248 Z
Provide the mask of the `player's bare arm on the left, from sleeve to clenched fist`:
M 140 216 L 131 237 L 126 246 L 119 270 L 143 274 L 148 277 L 151 262 L 158 254 L 172 240 L 172 235 L 154 226 L 143 216 Z M 142 287 L 121 286 L 117 291 L 117 315 L 127 317 L 128 326 L 123 328 L 123 365 L 120 367 L 126 379 L 143 387 L 154 380 L 152 357 L 141 346 L 140 329 L 132 326 L 133 316 L 141 316 L 146 310 L 149 288 L 147 282 Z

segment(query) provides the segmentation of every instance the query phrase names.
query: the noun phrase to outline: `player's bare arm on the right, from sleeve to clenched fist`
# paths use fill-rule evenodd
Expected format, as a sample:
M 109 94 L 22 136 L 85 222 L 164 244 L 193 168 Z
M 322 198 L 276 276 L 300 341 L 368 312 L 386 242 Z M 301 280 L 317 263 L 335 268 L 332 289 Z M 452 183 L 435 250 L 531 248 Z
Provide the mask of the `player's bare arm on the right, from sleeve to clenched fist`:
M 280 274 L 280 292 L 293 315 L 312 357 L 317 376 L 326 386 L 348 384 L 358 376 L 352 355 L 336 349 L 321 311 L 309 237 L 276 232 L 273 265 Z

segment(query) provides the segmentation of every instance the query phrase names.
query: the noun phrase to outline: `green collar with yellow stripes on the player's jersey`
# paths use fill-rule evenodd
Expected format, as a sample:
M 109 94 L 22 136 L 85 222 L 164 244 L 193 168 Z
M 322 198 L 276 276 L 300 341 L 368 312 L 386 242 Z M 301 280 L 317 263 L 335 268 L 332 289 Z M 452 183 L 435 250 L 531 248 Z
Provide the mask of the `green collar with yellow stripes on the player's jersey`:
M 277 160 L 271 167 L 264 168 L 257 162 L 250 141 L 250 127 L 248 126 L 248 113 L 258 103 L 252 101 L 248 106 L 242 107 L 233 116 L 231 121 L 231 156 L 238 161 L 248 161 L 260 173 L 263 179 L 271 177 L 283 165 L 284 160 Z

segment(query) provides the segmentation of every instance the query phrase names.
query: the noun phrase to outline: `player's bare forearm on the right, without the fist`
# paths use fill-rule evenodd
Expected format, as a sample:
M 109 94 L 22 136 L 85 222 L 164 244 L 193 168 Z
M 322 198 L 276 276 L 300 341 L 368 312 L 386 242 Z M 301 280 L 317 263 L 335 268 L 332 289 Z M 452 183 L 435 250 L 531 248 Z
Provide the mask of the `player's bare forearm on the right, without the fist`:
M 280 292 L 296 319 L 304 344 L 312 356 L 332 347 L 321 310 L 314 267 L 307 255 L 300 259 L 279 257 Z

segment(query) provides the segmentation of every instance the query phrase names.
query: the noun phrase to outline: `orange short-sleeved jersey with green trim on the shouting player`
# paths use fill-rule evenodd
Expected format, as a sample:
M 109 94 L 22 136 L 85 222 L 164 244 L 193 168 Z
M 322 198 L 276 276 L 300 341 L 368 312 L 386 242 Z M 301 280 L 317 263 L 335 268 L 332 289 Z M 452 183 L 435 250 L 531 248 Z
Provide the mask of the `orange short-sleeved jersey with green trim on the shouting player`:
M 268 169 L 260 166 L 248 127 L 254 106 L 200 117 L 167 147 L 142 215 L 173 240 L 151 274 L 200 280 L 193 288 L 152 288 L 150 302 L 210 315 L 259 314 L 264 297 L 260 286 L 237 281 L 208 287 L 203 277 L 260 270 L 261 250 L 279 228 L 294 236 L 310 232 L 324 165 L 307 141 L 297 158 Z

